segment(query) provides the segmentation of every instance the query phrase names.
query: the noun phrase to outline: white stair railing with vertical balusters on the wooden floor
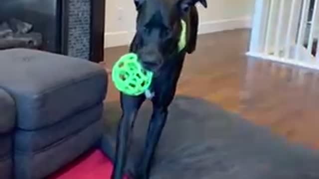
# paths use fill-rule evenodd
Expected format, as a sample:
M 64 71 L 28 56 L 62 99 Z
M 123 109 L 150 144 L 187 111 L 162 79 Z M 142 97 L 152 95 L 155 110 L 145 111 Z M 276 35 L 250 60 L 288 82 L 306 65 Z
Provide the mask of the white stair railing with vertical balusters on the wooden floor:
M 319 70 L 319 0 L 256 0 L 247 55 Z

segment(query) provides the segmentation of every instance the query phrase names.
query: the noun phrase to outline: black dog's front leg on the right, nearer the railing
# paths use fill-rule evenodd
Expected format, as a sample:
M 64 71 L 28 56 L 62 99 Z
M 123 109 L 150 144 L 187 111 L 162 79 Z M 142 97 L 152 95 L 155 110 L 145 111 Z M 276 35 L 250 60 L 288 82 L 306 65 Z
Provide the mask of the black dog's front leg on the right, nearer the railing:
M 167 107 L 154 107 L 152 119 L 149 124 L 146 146 L 139 165 L 136 179 L 149 179 L 151 163 L 156 147 L 167 119 Z

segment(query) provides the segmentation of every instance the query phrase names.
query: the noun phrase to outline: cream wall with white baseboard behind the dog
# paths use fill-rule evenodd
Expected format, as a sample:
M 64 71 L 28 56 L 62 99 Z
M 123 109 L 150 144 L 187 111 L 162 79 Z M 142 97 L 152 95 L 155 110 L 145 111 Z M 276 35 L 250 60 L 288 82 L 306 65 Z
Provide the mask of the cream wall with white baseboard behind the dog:
M 250 27 L 255 0 L 207 0 L 208 8 L 198 4 L 199 33 Z M 127 45 L 135 29 L 133 0 L 106 0 L 105 47 Z

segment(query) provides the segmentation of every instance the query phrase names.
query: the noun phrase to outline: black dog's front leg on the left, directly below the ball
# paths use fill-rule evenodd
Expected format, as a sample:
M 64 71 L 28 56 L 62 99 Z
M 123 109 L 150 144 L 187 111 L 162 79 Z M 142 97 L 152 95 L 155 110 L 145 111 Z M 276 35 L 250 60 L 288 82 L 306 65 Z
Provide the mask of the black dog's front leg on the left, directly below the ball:
M 114 170 L 111 179 L 123 179 L 133 125 L 144 96 L 121 94 L 122 117 L 118 126 Z

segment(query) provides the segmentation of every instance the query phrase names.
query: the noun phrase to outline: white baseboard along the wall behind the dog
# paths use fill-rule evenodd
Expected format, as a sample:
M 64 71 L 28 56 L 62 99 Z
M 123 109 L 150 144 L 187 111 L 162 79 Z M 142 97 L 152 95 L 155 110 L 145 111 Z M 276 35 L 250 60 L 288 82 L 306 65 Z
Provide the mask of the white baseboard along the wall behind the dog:
M 206 34 L 238 28 L 251 28 L 250 16 L 203 22 L 199 24 L 198 33 Z M 104 35 L 104 47 L 107 48 L 128 45 L 133 38 L 133 34 L 134 33 L 130 33 L 129 31 L 106 32 Z

